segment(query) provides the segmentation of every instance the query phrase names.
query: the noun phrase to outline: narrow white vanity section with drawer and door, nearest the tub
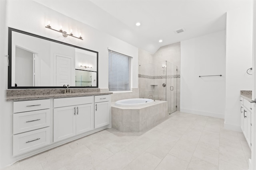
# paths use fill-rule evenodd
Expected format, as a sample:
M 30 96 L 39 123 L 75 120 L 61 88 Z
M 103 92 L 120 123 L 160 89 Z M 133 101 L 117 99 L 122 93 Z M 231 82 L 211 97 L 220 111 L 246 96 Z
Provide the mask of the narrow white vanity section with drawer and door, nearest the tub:
M 110 124 L 110 95 L 95 96 L 94 99 L 95 128 Z

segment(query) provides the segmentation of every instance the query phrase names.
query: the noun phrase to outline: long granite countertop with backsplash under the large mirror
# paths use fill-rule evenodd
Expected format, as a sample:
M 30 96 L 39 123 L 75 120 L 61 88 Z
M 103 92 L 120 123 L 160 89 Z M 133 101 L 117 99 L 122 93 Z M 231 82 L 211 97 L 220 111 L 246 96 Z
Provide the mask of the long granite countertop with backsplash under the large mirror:
M 70 98 L 82 96 L 98 96 L 113 94 L 112 92 L 100 92 L 98 89 L 79 90 L 71 89 L 72 93 L 64 94 L 63 89 L 26 89 L 26 90 L 7 90 L 6 101 L 24 101 L 24 100 L 40 100 L 50 98 Z

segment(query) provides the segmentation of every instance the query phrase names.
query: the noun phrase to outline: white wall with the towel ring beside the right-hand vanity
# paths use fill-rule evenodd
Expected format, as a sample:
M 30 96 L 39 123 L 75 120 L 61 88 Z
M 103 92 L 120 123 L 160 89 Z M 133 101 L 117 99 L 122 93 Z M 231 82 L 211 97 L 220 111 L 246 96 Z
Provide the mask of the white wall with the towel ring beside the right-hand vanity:
M 252 90 L 252 2 L 227 12 L 225 128 L 240 130 L 240 90 Z

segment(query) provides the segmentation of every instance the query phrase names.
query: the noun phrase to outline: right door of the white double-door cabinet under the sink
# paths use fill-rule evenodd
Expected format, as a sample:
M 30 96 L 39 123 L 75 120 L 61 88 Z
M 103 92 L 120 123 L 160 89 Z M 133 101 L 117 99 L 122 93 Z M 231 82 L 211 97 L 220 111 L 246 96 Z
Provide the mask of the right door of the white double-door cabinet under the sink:
M 76 106 L 76 135 L 93 129 L 94 121 L 92 106 L 92 104 Z

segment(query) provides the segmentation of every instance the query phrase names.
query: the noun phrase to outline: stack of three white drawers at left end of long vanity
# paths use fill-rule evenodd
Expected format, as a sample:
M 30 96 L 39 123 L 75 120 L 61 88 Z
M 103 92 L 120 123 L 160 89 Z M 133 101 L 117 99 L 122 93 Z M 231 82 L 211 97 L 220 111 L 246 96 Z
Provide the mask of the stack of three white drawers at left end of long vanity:
M 13 103 L 13 156 L 50 144 L 50 99 Z

